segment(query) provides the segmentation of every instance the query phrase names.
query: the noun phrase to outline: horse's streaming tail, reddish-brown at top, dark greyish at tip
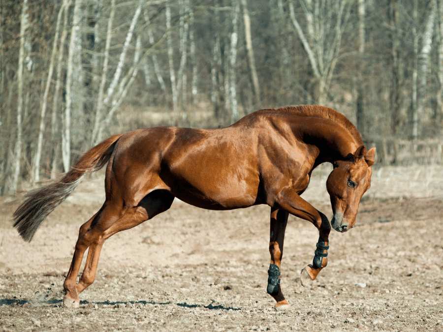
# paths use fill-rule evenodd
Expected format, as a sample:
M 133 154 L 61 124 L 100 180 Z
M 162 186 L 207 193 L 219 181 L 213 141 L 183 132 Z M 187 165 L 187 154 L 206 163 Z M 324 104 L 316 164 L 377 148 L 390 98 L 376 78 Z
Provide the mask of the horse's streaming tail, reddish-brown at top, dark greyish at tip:
M 41 223 L 74 191 L 86 173 L 98 171 L 107 164 L 121 136 L 111 136 L 84 153 L 62 179 L 25 194 L 24 202 L 13 214 L 14 227 L 23 240 L 32 241 Z

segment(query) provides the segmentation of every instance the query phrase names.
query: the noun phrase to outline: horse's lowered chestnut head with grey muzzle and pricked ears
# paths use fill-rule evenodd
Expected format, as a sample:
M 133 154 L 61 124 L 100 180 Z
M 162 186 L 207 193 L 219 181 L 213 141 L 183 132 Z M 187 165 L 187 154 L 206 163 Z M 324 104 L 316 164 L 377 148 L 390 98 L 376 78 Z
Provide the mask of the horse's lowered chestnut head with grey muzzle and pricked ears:
M 375 148 L 367 151 L 362 145 L 347 160 L 333 163 L 326 187 L 334 212 L 331 226 L 338 232 L 346 232 L 355 224 L 361 197 L 371 186 L 375 151 Z

